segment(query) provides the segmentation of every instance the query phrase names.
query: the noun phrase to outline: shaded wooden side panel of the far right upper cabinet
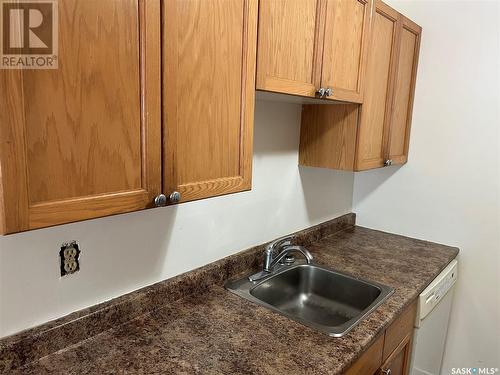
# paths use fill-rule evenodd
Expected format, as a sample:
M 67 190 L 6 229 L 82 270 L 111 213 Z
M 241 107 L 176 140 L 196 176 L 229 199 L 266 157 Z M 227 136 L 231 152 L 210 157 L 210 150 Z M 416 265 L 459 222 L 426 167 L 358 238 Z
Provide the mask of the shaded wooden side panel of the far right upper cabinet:
M 352 171 L 356 151 L 358 105 L 304 105 L 299 164 Z

